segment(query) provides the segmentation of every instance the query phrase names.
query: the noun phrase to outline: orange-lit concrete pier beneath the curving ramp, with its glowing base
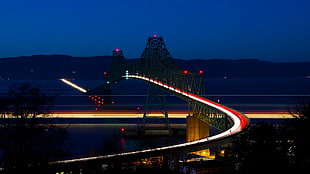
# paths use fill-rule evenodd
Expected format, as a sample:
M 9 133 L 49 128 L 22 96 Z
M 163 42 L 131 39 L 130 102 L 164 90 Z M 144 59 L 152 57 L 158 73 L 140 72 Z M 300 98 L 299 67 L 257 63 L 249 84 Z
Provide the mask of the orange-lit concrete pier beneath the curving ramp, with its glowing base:
M 186 118 L 186 141 L 191 142 L 210 136 L 210 125 L 194 116 Z M 210 150 L 204 149 L 194 152 L 196 155 L 210 158 Z

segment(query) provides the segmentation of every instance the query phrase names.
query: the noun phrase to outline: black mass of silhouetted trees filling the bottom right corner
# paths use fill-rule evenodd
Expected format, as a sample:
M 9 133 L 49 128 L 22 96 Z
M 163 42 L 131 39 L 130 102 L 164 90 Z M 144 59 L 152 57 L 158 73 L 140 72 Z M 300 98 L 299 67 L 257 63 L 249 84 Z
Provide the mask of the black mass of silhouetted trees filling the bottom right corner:
M 284 124 L 259 123 L 235 138 L 224 160 L 239 173 L 309 173 L 310 102 L 293 107 Z

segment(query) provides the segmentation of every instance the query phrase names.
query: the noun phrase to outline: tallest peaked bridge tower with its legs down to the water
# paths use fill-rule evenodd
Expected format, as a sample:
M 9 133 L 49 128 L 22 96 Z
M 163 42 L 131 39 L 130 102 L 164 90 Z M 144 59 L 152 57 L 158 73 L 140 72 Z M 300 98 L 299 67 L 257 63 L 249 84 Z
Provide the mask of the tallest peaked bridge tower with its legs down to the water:
M 146 68 L 146 71 L 144 72 L 149 72 L 147 76 L 158 78 L 157 73 L 154 74 L 154 71 L 147 71 L 147 69 L 156 69 L 158 68 L 157 66 L 160 61 L 165 61 L 168 59 L 172 59 L 172 57 L 166 48 L 163 38 L 157 37 L 157 35 L 149 37 L 146 43 L 146 47 L 140 58 L 140 62 L 143 62 L 144 65 L 147 65 L 144 66 L 144 68 Z M 147 134 L 147 132 L 155 131 L 152 130 L 154 129 L 152 128 L 152 124 L 154 123 L 160 125 L 160 127 L 156 127 L 160 130 L 155 133 L 170 134 L 170 124 L 165 92 L 163 89 L 149 84 L 142 120 L 142 127 L 145 134 Z

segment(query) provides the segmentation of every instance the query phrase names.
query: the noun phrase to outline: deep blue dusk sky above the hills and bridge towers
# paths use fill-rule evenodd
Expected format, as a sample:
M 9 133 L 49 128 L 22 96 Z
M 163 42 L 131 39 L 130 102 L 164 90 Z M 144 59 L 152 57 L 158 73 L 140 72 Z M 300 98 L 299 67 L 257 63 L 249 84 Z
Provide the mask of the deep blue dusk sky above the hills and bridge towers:
M 148 36 L 174 58 L 310 61 L 310 0 L 6 0 L 0 57 L 140 57 Z

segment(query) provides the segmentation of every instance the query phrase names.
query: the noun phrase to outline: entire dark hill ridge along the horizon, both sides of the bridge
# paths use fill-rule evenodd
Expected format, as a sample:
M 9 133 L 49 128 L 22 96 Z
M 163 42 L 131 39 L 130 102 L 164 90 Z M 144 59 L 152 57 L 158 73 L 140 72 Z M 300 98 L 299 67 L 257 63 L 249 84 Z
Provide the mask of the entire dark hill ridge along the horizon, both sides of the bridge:
M 66 55 L 34 55 L 0 59 L 0 79 L 50 80 L 75 78 L 103 79 L 109 70 L 111 56 L 72 57 Z M 135 62 L 137 59 L 128 59 Z M 182 68 L 198 72 L 203 70 L 209 78 L 265 78 L 306 77 L 310 75 L 310 62 L 274 63 L 256 59 L 175 59 Z

